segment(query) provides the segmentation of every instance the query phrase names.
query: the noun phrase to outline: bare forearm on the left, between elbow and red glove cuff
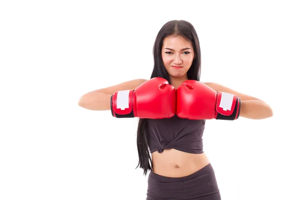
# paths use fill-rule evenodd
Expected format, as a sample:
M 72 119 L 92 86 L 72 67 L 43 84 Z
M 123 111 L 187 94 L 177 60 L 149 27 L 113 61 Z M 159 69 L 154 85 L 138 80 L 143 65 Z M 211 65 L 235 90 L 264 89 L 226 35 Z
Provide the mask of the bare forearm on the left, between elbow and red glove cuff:
M 111 95 L 91 91 L 80 97 L 78 105 L 90 110 L 110 110 Z

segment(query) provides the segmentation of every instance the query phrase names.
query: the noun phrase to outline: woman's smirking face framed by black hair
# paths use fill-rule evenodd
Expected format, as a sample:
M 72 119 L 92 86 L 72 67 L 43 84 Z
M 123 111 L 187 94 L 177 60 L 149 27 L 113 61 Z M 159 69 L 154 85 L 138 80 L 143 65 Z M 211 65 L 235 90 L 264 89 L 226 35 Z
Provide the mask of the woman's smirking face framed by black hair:
M 179 35 L 168 36 L 163 40 L 161 54 L 170 76 L 187 78 L 187 71 L 195 56 L 191 41 Z

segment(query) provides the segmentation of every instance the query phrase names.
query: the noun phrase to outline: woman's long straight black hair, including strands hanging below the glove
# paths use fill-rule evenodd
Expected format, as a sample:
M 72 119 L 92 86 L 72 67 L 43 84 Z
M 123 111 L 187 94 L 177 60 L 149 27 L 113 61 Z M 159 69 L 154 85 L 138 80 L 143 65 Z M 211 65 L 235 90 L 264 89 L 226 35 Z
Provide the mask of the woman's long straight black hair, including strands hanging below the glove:
M 190 69 L 187 72 L 188 79 L 200 80 L 201 74 L 201 49 L 197 32 L 194 26 L 185 20 L 172 20 L 165 23 L 160 29 L 153 48 L 154 54 L 154 69 L 150 78 L 163 77 L 171 83 L 170 76 L 164 67 L 161 50 L 163 40 L 170 35 L 179 35 L 189 40 L 193 44 L 195 58 Z M 137 149 L 139 156 L 139 163 L 137 167 L 143 169 L 143 174 L 146 175 L 148 170 L 153 170 L 153 161 L 150 157 L 147 144 L 147 120 L 140 118 L 137 128 Z M 136 167 L 136 168 L 137 168 Z

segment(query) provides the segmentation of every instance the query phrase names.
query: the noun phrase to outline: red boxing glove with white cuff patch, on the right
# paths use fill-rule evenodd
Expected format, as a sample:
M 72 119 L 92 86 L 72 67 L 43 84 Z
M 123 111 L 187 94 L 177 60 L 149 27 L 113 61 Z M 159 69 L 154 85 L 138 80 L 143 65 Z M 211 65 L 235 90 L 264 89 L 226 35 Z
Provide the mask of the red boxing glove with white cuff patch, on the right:
M 177 115 L 181 118 L 235 120 L 240 104 L 238 96 L 216 92 L 196 80 L 186 80 L 177 88 Z

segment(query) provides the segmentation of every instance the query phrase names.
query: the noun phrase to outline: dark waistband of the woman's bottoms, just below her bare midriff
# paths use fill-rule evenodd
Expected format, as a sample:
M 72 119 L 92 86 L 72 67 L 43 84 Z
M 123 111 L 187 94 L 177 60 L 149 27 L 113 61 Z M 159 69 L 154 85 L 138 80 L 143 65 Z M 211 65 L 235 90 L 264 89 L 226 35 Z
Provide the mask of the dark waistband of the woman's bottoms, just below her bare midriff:
M 164 181 L 164 182 L 181 182 L 181 181 L 190 180 L 190 179 L 193 179 L 193 178 L 196 178 L 201 175 L 208 174 L 208 173 L 212 173 L 212 172 L 214 173 L 213 167 L 212 167 L 211 163 L 209 163 L 206 166 L 204 166 L 203 168 L 201 168 L 200 170 L 198 170 L 190 175 L 183 176 L 183 177 L 163 176 L 163 175 L 159 175 L 159 174 L 155 173 L 154 171 L 150 171 L 149 177 L 155 178 L 155 179 L 158 179 L 158 180 Z

